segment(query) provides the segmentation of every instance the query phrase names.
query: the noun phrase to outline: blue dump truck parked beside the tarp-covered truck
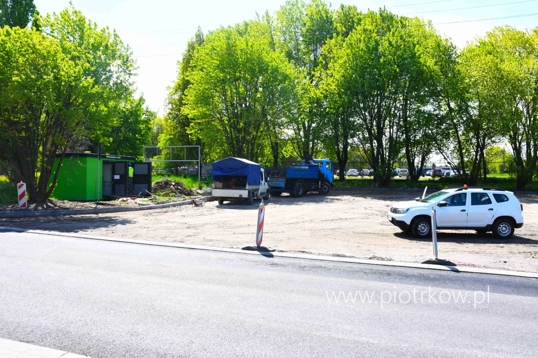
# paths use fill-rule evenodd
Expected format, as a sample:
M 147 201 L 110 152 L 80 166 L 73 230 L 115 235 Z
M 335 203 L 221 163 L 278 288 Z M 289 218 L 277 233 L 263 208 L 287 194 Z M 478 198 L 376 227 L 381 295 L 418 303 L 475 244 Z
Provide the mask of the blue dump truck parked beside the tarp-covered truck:
M 295 198 L 313 191 L 329 194 L 334 175 L 329 159 L 309 159 L 287 169 L 266 169 L 267 185 L 272 196 L 287 192 Z

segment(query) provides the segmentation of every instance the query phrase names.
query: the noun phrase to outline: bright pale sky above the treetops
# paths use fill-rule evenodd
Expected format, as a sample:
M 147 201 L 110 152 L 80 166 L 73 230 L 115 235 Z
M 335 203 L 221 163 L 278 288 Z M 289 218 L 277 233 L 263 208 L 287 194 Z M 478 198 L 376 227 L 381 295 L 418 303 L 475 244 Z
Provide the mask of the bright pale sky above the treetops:
M 266 10 L 274 13 L 285 2 L 72 0 L 75 8 L 98 26 L 115 28 L 131 47 L 138 64 L 138 94 L 143 94 L 146 104 L 160 116 L 166 111 L 167 87 L 178 73 L 177 62 L 198 26 L 204 32 L 215 30 L 252 19 Z M 34 0 L 34 3 L 41 14 L 60 12 L 69 6 L 69 0 Z M 337 0 L 330 3 L 332 8 L 348 4 L 364 11 L 385 6 L 399 15 L 431 20 L 438 32 L 460 48 L 494 26 L 511 25 L 519 29 L 538 26 L 538 0 Z

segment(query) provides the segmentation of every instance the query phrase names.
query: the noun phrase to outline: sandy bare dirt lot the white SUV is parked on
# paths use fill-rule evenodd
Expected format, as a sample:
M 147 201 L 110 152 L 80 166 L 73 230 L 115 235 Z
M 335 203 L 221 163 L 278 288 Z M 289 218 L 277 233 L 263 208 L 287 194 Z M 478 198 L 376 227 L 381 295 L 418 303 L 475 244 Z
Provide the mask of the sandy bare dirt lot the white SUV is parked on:
M 416 239 L 387 220 L 393 202 L 414 192 L 332 192 L 267 201 L 263 245 L 278 251 L 420 262 L 432 256 L 431 240 Z M 439 257 L 458 265 L 538 272 L 538 196 L 518 195 L 525 225 L 508 240 L 491 233 L 440 231 Z M 257 208 L 217 202 L 204 207 L 70 217 L 0 220 L 25 229 L 240 248 L 254 245 Z

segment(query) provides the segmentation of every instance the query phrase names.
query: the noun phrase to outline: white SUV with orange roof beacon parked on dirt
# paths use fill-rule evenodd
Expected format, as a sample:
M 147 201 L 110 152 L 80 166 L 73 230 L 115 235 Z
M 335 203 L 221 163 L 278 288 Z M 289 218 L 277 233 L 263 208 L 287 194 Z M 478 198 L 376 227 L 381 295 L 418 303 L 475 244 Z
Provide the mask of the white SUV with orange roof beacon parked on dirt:
M 492 231 L 507 239 L 523 226 L 523 206 L 514 193 L 489 187 L 449 187 L 424 199 L 394 204 L 388 221 L 415 237 L 431 237 L 431 207 L 438 230 Z

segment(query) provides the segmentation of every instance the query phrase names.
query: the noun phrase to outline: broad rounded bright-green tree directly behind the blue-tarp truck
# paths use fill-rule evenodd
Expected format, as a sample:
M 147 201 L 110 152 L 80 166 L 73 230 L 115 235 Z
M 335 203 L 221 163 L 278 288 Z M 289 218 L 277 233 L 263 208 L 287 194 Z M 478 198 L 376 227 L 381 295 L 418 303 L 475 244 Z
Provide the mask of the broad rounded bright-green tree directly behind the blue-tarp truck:
M 193 59 L 182 113 L 189 132 L 226 156 L 257 161 L 270 122 L 293 94 L 293 68 L 271 47 L 266 23 L 245 21 L 209 33 Z

